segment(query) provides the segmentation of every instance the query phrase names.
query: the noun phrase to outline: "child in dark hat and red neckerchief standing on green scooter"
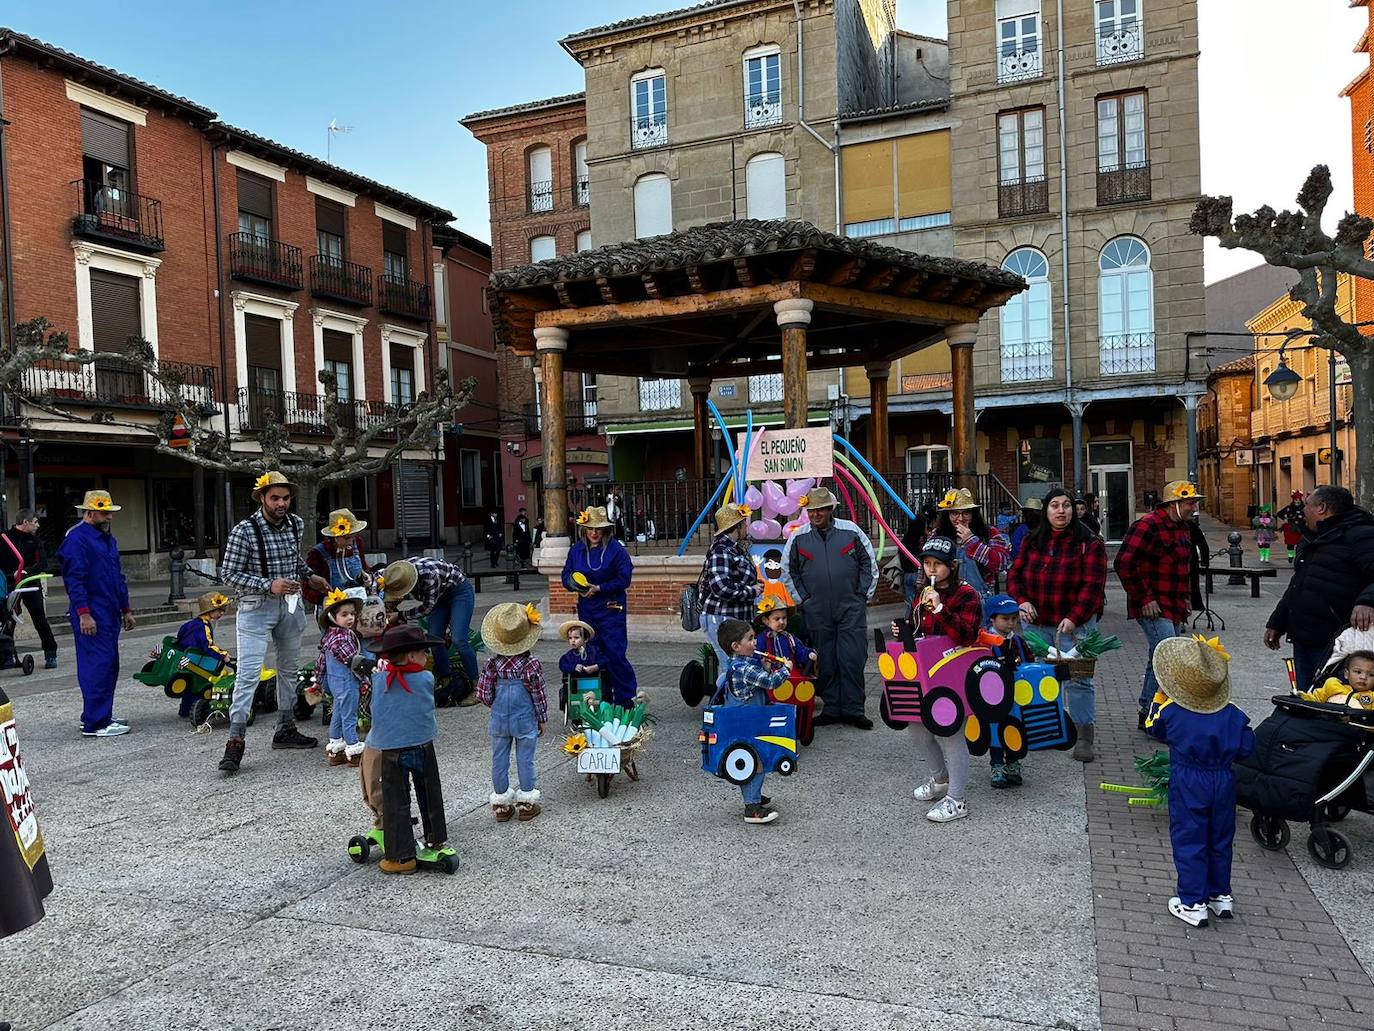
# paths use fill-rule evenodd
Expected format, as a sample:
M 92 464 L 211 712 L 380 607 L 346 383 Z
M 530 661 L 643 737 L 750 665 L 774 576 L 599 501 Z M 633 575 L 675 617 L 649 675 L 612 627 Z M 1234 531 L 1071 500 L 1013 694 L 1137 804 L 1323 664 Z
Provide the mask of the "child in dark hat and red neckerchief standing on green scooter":
M 411 829 L 411 785 L 419 803 L 425 844 L 448 841 L 444 790 L 438 782 L 434 738 L 434 674 L 425 668 L 437 642 L 422 627 L 392 627 L 378 638 L 372 674 L 372 729 L 367 745 L 381 752 L 382 834 L 386 855 L 382 873 L 415 873 L 415 832 Z M 363 800 L 368 801 L 367 781 Z

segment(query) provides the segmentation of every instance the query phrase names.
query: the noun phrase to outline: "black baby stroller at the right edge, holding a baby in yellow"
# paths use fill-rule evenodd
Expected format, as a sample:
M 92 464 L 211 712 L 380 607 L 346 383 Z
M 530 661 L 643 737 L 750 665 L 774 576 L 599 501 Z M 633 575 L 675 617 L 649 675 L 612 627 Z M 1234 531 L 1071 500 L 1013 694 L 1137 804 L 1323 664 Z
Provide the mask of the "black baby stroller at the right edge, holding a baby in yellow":
M 1355 810 L 1374 814 L 1374 709 L 1278 694 L 1254 738 L 1254 753 L 1235 763 L 1237 801 L 1254 814 L 1250 834 L 1278 852 L 1290 839 L 1287 821 L 1301 821 L 1318 863 L 1348 866 L 1351 841 L 1331 825 Z

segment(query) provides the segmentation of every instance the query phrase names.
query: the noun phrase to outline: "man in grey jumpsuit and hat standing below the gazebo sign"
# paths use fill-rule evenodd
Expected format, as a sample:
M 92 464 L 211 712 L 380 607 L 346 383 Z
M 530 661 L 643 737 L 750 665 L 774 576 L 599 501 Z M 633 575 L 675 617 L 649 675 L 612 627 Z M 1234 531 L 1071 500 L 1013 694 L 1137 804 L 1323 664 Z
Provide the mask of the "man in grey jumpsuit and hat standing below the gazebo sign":
M 816 691 L 824 711 L 816 723 L 871 730 L 872 720 L 863 713 L 863 671 L 868 664 L 868 599 L 878 586 L 878 559 L 857 524 L 835 518 L 835 496 L 824 487 L 811 491 L 807 518 L 809 525 L 787 539 L 782 572 L 819 656 Z

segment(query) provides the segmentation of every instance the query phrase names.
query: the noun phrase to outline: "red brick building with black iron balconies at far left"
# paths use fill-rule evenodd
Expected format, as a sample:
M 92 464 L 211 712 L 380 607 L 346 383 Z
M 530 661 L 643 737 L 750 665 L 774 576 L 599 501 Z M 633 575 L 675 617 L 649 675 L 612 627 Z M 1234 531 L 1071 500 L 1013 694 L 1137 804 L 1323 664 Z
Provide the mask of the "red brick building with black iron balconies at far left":
M 448 212 L 11 30 L 0 114 L 5 327 L 41 315 L 95 352 L 147 338 L 206 425 L 247 452 L 268 421 L 301 440 L 327 434 L 324 368 L 360 428 L 425 389 L 437 367 L 431 231 Z M 151 572 L 159 551 L 194 539 L 196 518 L 213 544 L 246 511 L 246 484 L 206 484 L 153 452 L 136 423 L 158 418 L 159 399 L 142 374 L 59 363 L 32 375 L 89 414 L 7 411 L 8 498 L 45 510 L 54 537 L 85 489 L 106 487 L 124 506 L 129 568 L 146 559 Z M 353 507 L 372 546 L 436 540 L 440 443 L 398 463 L 400 492 L 385 473 L 331 489 L 322 509 Z

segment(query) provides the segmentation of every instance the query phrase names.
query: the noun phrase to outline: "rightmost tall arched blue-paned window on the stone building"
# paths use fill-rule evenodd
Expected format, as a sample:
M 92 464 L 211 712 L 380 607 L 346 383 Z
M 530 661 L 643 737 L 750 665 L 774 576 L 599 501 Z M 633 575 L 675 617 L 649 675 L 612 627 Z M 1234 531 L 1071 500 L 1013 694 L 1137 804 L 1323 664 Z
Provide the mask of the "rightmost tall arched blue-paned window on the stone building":
M 1154 272 L 1138 236 L 1109 241 L 1098 258 L 1098 338 L 1103 375 L 1154 371 Z

